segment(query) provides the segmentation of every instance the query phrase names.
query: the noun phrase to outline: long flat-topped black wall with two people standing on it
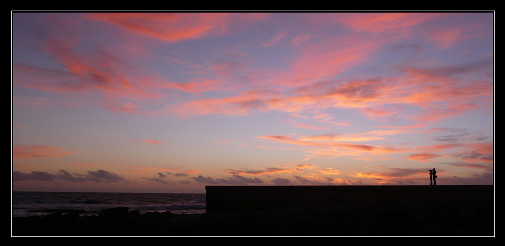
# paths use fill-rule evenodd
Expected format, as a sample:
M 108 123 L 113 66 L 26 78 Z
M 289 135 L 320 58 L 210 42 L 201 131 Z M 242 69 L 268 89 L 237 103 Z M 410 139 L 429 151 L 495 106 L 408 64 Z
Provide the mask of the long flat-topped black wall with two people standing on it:
M 266 211 L 298 207 L 377 207 L 472 211 L 494 206 L 493 186 L 206 186 L 207 213 Z

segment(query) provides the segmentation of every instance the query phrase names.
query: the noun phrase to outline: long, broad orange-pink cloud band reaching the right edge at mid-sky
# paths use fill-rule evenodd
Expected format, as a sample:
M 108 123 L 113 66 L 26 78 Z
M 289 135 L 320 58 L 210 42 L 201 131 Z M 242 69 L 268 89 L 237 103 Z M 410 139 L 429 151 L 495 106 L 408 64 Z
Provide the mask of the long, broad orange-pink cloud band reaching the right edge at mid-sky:
M 317 78 L 307 80 L 312 83 L 311 85 L 298 87 L 294 90 L 294 94 L 287 90 L 252 90 L 232 97 L 200 99 L 182 105 L 174 105 L 169 111 L 181 116 L 189 116 L 213 113 L 247 115 L 253 111 L 279 110 L 297 116 L 300 115 L 299 113 L 322 111 L 328 108 L 351 108 L 362 110 L 365 115 L 373 118 L 407 116 L 418 121 L 436 121 L 473 110 L 482 104 L 483 97 L 492 96 L 492 90 L 487 82 L 461 83 L 461 81 L 452 78 L 453 75 L 467 73 L 465 71 L 485 71 L 488 68 L 487 60 L 437 69 L 403 68 L 401 71 L 407 74 L 405 77 L 320 83 L 314 83 L 314 81 L 326 77 L 325 74 L 329 70 L 327 72 L 309 72 L 311 66 L 318 70 L 325 69 L 324 66 L 319 66 L 319 61 L 315 57 L 303 60 L 307 63 L 310 60 L 310 66 L 300 64 L 300 68 L 295 68 L 293 71 L 297 71 L 298 74 L 312 74 L 310 76 L 318 75 Z M 328 68 L 332 70 L 335 66 L 331 65 Z M 295 81 L 291 80 L 289 83 L 297 83 Z M 297 86 L 303 83 L 305 82 L 298 83 Z M 277 86 L 287 85 L 284 80 L 276 81 L 274 84 Z M 289 86 L 295 86 L 295 84 Z M 384 106 L 386 104 L 396 105 Z M 422 109 L 417 113 L 399 115 L 404 111 L 399 104 L 414 104 L 421 106 Z M 346 125 L 328 119 L 331 117 L 327 115 L 321 121 Z M 295 126 L 306 129 L 323 128 L 298 122 Z

